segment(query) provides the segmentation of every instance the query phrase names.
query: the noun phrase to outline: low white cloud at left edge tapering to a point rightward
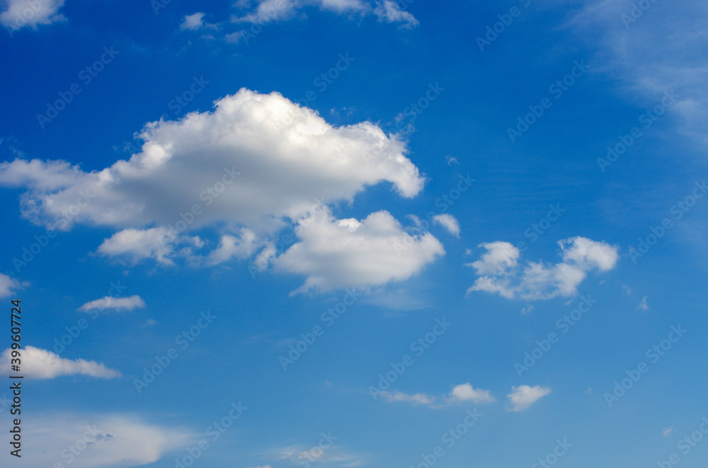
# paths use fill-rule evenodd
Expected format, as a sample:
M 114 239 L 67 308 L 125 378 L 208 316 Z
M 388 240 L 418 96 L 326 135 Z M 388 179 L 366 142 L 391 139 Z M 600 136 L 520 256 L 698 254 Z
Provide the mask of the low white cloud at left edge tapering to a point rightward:
M 11 349 L 6 349 L 0 358 L 0 365 L 9 369 L 11 364 Z M 84 359 L 64 359 L 45 349 L 25 346 L 22 351 L 22 375 L 30 379 L 53 379 L 61 375 L 88 375 L 89 377 L 112 379 L 120 377 L 118 370 L 105 367 L 96 361 Z

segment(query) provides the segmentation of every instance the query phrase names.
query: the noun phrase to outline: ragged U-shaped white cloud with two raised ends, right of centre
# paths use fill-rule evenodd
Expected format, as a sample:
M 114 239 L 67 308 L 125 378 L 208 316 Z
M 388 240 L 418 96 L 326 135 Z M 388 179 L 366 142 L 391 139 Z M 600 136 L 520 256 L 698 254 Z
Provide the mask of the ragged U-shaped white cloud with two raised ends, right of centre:
M 467 264 L 480 277 L 467 293 L 485 291 L 523 300 L 573 296 L 588 271 L 608 271 L 619 259 L 617 247 L 605 242 L 575 237 L 558 244 L 562 262 L 554 265 L 528 262 L 523 269 L 518 265 L 519 250 L 509 242 L 481 244 L 479 247 L 484 247 L 487 252 L 476 262 Z

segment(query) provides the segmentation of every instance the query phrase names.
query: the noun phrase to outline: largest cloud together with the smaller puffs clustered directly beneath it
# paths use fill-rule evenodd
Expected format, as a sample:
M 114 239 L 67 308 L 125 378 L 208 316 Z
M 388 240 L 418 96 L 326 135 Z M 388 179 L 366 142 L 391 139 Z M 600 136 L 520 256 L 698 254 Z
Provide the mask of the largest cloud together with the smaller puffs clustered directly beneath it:
M 212 112 L 149 123 L 140 138 L 142 151 L 103 170 L 0 163 L 0 185 L 25 189 L 21 211 L 35 224 L 118 229 L 98 246 L 105 257 L 213 266 L 261 249 L 261 263 L 307 276 L 301 291 L 402 281 L 445 253 L 433 235 L 409 235 L 386 211 L 361 221 L 332 216 L 330 204 L 371 185 L 389 182 L 401 197 L 423 188 L 404 142 L 370 122 L 333 127 L 278 93 L 241 89 Z M 452 216 L 436 221 L 459 234 Z M 276 257 L 270 236 L 292 223 L 299 242 Z M 189 234 L 205 227 L 219 228 L 217 242 Z

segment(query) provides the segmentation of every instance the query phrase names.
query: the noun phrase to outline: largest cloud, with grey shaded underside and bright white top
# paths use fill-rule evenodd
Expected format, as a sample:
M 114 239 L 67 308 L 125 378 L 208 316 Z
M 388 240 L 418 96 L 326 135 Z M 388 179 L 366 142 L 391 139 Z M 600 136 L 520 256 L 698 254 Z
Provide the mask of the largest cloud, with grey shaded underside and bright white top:
M 404 143 L 370 122 L 332 127 L 278 93 L 246 89 L 215 107 L 147 124 L 142 151 L 103 170 L 17 159 L 0 163 L 0 184 L 25 187 L 23 216 L 47 227 L 81 201 L 76 223 L 191 229 L 221 222 L 254 230 L 302 216 L 316 199 L 351 200 L 379 182 L 392 182 L 404 197 L 423 187 Z

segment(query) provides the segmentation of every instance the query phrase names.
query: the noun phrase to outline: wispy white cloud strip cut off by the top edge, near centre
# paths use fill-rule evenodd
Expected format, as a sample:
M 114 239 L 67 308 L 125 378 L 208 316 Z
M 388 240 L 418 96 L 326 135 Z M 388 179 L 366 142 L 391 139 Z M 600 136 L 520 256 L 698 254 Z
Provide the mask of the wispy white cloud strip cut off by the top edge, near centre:
M 238 4 L 237 4 L 238 5 Z M 402 11 L 395 1 L 384 0 L 372 3 L 362 0 L 261 0 L 258 6 L 241 16 L 233 16 L 234 23 L 258 23 L 287 20 L 305 8 L 319 8 L 338 14 L 364 16 L 373 13 L 379 21 L 385 23 L 400 23 L 399 28 L 414 28 L 418 20 L 408 11 Z

